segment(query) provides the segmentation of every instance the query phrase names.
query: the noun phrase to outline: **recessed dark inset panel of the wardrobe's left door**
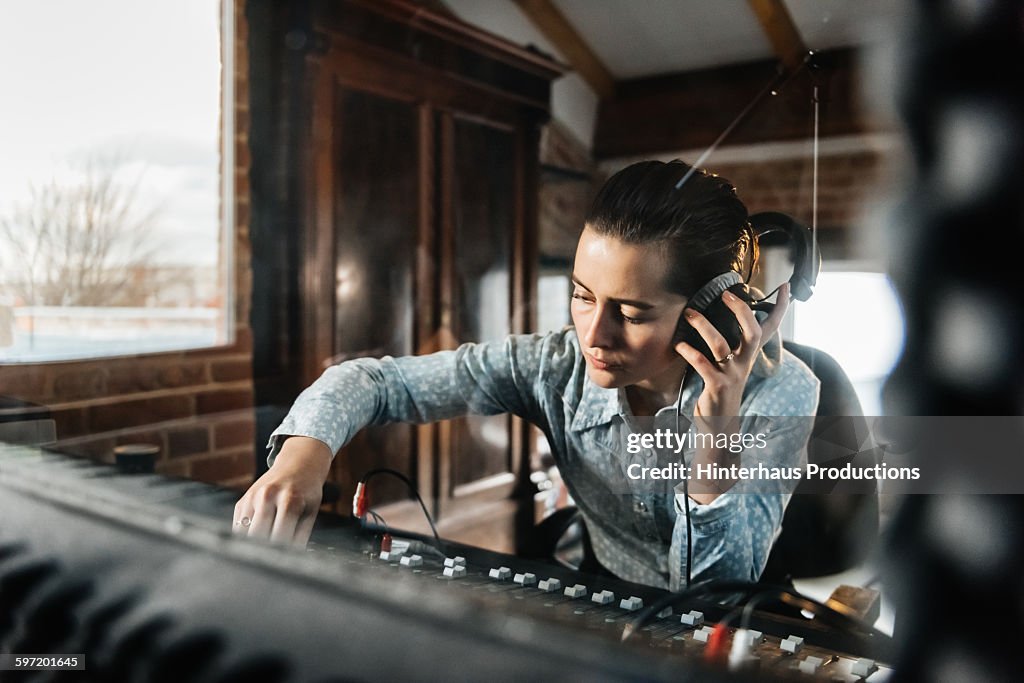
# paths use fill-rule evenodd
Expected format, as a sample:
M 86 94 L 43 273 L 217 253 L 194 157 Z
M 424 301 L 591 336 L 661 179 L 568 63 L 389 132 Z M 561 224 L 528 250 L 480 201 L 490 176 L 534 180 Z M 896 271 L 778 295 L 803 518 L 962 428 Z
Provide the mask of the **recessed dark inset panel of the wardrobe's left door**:
M 414 351 L 419 226 L 419 113 L 414 104 L 338 88 L 333 117 L 333 361 Z M 345 450 L 346 468 L 392 467 L 414 476 L 415 428 L 364 430 Z M 375 503 L 408 498 L 375 481 Z

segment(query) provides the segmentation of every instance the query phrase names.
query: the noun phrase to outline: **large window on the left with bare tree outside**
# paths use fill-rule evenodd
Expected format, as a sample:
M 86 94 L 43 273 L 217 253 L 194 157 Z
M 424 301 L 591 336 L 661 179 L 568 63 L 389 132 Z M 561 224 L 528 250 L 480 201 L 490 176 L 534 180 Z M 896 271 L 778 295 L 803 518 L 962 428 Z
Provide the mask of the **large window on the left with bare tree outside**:
M 0 361 L 230 341 L 224 5 L 0 5 Z

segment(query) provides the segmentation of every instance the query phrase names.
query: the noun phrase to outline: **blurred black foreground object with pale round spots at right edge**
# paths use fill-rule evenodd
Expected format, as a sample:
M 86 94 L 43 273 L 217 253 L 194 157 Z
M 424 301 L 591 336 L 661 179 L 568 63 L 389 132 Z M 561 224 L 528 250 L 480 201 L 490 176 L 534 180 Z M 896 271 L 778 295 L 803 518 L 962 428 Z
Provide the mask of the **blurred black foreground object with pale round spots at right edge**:
M 1013 264 L 1024 242 L 1024 3 L 914 9 L 890 65 L 914 169 L 890 226 L 906 345 L 886 412 L 1020 415 L 1024 306 Z M 1020 436 L 1009 447 L 977 434 L 965 475 L 972 461 L 1018 458 L 1006 454 L 1020 453 Z M 1020 497 L 907 498 L 888 549 L 897 680 L 1020 679 L 1022 529 Z

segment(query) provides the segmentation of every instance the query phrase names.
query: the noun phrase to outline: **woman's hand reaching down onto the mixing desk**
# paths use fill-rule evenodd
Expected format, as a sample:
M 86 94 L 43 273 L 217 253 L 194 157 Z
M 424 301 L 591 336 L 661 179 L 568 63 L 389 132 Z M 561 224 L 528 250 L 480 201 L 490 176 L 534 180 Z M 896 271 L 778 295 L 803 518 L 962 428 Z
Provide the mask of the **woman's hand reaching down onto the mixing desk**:
M 323 441 L 289 437 L 273 466 L 234 504 L 234 531 L 304 546 L 316 521 L 331 461 L 331 450 Z

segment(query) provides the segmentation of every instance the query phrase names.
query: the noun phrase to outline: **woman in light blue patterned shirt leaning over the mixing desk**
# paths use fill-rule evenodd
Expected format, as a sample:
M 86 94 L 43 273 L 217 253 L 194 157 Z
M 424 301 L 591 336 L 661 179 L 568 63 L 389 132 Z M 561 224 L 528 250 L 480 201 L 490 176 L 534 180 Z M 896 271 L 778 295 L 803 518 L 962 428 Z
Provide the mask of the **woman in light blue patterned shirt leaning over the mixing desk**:
M 369 424 L 507 412 L 548 436 L 596 560 L 613 574 L 685 586 L 692 527 L 692 581 L 756 580 L 787 495 L 740 494 L 728 483 L 689 495 L 680 486 L 624 490 L 614 447 L 624 424 L 674 416 L 677 403 L 687 420 L 711 429 L 728 418 L 735 429 L 736 417 L 813 416 L 817 407 L 817 380 L 776 337 L 787 287 L 760 324 L 742 301 L 723 295 L 741 330 L 736 348 L 687 307 L 722 273 L 738 281 L 756 248 L 732 185 L 695 172 L 677 188 L 689 170 L 679 161 L 642 162 L 602 187 L 577 249 L 572 328 L 426 356 L 360 358 L 326 371 L 271 436 L 272 467 L 236 506 L 236 528 L 304 543 L 334 454 Z M 680 315 L 713 358 L 678 341 Z M 802 465 L 810 423 L 790 421 L 773 430 L 760 455 L 776 465 Z M 687 462 L 727 465 L 731 455 L 698 447 Z

